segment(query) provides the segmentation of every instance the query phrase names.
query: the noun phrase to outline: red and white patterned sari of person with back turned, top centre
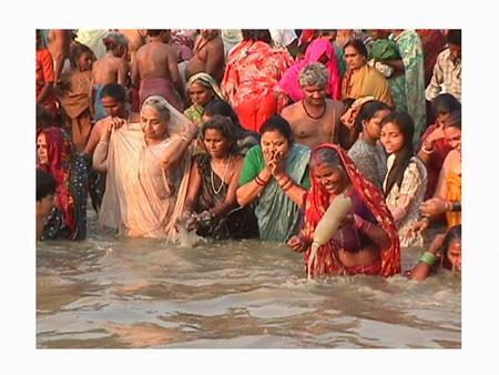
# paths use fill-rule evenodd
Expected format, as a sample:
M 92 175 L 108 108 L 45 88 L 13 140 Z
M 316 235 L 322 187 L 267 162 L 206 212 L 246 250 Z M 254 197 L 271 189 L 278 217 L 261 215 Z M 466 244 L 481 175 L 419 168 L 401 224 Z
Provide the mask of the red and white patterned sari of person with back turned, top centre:
M 289 53 L 265 42 L 244 40 L 227 57 L 222 91 L 243 128 L 259 131 L 277 111 L 273 88 L 293 64 Z

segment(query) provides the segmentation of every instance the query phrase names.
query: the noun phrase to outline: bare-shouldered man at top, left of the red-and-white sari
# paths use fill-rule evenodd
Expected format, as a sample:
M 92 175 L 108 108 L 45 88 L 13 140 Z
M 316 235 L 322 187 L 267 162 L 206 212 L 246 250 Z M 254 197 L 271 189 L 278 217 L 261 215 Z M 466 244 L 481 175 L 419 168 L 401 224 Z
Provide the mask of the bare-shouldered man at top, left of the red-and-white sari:
M 195 73 L 204 72 L 212 75 L 218 83 L 224 75 L 224 42 L 220 30 L 201 30 L 194 42 L 194 55 L 185 68 L 189 80 Z

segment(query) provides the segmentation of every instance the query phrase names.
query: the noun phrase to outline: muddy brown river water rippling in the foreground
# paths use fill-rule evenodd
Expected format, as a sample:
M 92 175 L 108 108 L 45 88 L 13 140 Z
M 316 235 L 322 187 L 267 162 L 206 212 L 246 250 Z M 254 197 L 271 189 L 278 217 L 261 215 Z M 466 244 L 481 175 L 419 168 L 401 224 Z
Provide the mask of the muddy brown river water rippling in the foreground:
M 116 239 L 37 245 L 38 348 L 459 348 L 461 282 L 439 272 L 306 281 L 255 240 L 181 247 Z M 420 250 L 403 251 L 403 268 Z

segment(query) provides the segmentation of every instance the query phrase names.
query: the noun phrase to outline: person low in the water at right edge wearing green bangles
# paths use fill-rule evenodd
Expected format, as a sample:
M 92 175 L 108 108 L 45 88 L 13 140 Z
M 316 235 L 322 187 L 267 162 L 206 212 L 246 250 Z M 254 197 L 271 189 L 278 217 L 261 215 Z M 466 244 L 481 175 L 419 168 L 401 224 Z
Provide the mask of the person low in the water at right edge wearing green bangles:
M 418 263 L 406 276 L 421 281 L 439 268 L 461 274 L 461 225 L 452 226 L 447 234 L 437 234 L 428 251 L 422 253 Z

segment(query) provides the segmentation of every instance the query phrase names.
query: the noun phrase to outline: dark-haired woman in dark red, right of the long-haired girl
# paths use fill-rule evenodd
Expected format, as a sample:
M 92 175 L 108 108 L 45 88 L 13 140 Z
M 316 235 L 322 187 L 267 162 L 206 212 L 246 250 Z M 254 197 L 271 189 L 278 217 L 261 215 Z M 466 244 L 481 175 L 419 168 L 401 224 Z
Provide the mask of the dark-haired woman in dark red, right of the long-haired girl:
M 431 101 L 435 124 L 428 126 L 421 136 L 421 145 L 418 152 L 419 159 L 426 164 L 428 170 L 428 186 L 425 199 L 428 200 L 435 194 L 438 175 L 444 160 L 452 150 L 444 134 L 444 124 L 449 119 L 451 112 L 460 110 L 461 103 L 449 93 L 439 94 Z

